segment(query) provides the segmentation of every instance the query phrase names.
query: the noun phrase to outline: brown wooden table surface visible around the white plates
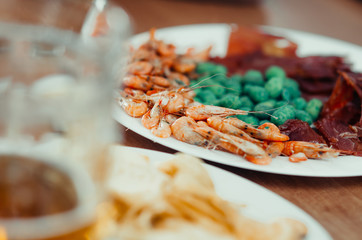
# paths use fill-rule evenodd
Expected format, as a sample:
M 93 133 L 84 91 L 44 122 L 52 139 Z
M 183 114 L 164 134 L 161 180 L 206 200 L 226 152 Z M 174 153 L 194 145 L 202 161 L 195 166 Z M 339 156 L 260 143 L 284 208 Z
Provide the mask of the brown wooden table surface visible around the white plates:
M 134 33 L 197 23 L 270 25 L 308 31 L 362 45 L 358 0 L 115 0 L 131 16 Z M 176 151 L 125 130 L 122 144 Z M 316 178 L 261 173 L 207 163 L 279 194 L 320 222 L 333 239 L 361 239 L 362 177 Z M 362 172 L 362 169 L 361 169 Z

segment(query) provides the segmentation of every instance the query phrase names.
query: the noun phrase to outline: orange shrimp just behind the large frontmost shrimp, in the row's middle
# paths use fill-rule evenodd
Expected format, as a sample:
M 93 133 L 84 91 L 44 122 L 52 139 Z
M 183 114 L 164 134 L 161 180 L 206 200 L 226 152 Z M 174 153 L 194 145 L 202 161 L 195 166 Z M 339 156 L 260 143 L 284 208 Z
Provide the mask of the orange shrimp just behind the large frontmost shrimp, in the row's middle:
M 250 137 L 246 132 L 244 132 L 243 130 L 237 128 L 237 127 L 234 127 L 233 125 L 227 123 L 227 122 L 224 122 L 224 118 L 221 118 L 221 117 L 209 117 L 207 119 L 207 124 L 220 131 L 220 132 L 223 132 L 223 133 L 226 133 L 226 134 L 230 134 L 230 135 L 234 135 L 234 136 L 237 136 L 237 137 L 240 137 L 244 140 L 247 140 L 249 142 L 252 142 L 252 143 L 255 143 L 255 144 L 258 144 L 258 145 L 261 145 L 262 142 L 260 140 L 257 140 L 255 138 L 252 138 Z

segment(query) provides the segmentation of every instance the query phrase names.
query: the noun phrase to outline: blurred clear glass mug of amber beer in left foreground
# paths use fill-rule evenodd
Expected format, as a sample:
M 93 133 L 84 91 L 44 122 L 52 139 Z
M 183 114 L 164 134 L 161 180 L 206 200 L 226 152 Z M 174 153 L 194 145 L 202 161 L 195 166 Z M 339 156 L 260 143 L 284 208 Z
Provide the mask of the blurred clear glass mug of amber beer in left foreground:
M 106 1 L 0 3 L 0 239 L 92 239 L 128 16 Z

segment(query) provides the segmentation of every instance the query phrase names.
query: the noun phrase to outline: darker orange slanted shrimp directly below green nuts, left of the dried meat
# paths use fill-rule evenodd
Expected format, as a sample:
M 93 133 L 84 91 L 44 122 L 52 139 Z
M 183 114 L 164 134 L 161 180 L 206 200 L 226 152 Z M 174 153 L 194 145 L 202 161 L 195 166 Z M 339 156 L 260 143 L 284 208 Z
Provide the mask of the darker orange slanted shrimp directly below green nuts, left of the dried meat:
M 276 132 L 269 129 L 254 128 L 252 125 L 247 124 L 246 122 L 243 122 L 237 118 L 228 118 L 225 119 L 225 122 L 239 129 L 242 129 L 243 131 L 250 134 L 250 136 L 257 139 L 267 140 L 267 141 L 280 141 L 280 142 L 289 140 L 289 137 L 287 135 L 281 134 L 280 132 Z

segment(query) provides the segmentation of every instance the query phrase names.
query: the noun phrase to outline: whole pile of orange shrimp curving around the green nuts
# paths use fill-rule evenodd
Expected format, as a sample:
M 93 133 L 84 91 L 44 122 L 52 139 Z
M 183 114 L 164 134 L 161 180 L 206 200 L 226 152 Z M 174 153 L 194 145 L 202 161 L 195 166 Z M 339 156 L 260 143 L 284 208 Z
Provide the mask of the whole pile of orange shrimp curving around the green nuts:
M 150 39 L 132 51 L 120 91 L 124 111 L 141 118 L 142 125 L 160 138 L 170 136 L 206 148 L 240 155 L 251 163 L 267 165 L 273 157 L 289 156 L 289 161 L 337 157 L 339 151 L 325 145 L 289 141 L 272 123 L 254 127 L 232 117 L 247 111 L 203 105 L 193 101 L 189 77 L 198 62 L 207 61 L 211 48 L 177 54 L 175 46 Z

